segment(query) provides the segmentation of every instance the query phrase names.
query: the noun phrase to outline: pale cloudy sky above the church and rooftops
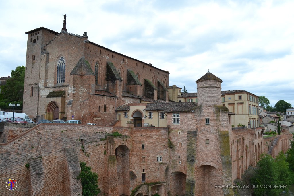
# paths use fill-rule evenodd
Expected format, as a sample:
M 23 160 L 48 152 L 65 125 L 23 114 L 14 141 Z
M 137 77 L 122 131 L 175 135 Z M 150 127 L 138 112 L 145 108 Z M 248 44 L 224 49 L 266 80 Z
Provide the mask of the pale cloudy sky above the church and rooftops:
M 294 1 L 71 0 L 0 2 L 0 76 L 26 59 L 25 32 L 69 33 L 170 72 L 169 85 L 197 92 L 210 72 L 222 90 L 294 105 Z

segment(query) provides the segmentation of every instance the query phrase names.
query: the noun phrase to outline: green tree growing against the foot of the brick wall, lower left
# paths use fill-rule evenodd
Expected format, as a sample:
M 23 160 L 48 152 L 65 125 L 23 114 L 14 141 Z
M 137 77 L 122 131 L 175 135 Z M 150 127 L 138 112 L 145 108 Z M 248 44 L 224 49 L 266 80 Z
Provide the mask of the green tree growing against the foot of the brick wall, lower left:
M 91 167 L 86 165 L 87 163 L 80 161 L 81 173 L 77 176 L 77 179 L 81 179 L 83 186 L 82 196 L 94 196 L 100 192 L 98 175 L 91 171 Z

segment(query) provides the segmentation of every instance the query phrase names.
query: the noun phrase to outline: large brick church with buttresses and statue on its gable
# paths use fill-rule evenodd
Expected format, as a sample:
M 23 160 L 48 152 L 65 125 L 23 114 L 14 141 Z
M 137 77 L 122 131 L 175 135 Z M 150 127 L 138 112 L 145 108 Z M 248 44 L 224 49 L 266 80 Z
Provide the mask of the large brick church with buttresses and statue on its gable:
M 111 125 L 115 108 L 141 98 L 168 101 L 169 72 L 68 33 L 28 34 L 23 112 L 31 118 Z

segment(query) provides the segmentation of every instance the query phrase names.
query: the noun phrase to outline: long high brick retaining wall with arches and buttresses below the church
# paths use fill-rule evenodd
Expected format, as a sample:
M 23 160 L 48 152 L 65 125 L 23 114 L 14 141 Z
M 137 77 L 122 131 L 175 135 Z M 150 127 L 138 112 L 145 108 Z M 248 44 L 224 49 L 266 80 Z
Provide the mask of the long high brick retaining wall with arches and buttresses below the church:
M 192 121 L 190 125 L 197 124 Z M 285 152 L 292 136 L 263 138 L 261 128 L 236 128 L 209 133 L 210 144 L 219 143 L 209 147 L 202 141 L 207 135 L 188 125 L 40 124 L 17 132 L 15 123 L 1 122 L 0 128 L 0 139 L 6 141 L 0 143 L 0 181 L 17 180 L 15 190 L 2 189 L 8 196 L 81 195 L 79 161 L 98 174 L 99 195 L 233 195 L 214 185 L 232 184 L 249 165 L 255 166 L 261 153 Z M 122 136 L 106 136 L 116 131 Z

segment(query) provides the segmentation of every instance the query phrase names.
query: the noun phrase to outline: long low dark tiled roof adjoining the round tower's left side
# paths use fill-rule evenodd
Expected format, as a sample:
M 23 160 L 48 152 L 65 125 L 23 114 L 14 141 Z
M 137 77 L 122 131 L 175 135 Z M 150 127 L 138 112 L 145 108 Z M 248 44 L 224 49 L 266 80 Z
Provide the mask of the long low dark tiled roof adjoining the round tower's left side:
M 176 102 L 176 103 L 147 103 L 147 111 L 163 111 L 163 113 L 171 112 L 193 112 L 197 107 L 194 102 Z

